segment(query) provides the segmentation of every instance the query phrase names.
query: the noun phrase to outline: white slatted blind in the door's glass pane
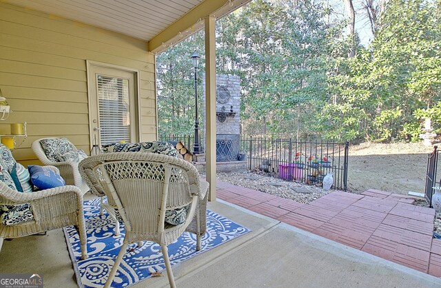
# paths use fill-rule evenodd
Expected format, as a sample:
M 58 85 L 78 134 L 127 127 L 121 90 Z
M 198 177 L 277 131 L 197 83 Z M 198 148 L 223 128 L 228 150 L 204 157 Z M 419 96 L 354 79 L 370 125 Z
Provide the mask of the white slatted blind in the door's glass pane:
M 129 81 L 97 75 L 101 145 L 130 142 Z

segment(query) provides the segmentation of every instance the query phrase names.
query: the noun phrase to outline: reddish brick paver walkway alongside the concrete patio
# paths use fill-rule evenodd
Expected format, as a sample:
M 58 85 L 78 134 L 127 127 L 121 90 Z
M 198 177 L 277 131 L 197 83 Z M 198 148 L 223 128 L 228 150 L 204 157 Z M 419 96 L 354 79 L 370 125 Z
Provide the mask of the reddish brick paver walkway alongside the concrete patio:
M 369 189 L 302 204 L 221 181 L 216 191 L 229 203 L 441 277 L 441 240 L 432 238 L 435 210 L 412 205 L 411 197 Z

